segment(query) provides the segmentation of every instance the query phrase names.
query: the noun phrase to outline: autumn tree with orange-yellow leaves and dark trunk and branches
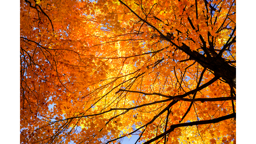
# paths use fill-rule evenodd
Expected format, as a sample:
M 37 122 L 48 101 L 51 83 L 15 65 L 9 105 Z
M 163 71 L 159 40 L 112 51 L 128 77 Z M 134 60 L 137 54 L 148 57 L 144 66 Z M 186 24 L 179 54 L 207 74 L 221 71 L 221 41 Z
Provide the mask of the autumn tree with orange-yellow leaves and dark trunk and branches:
M 235 143 L 235 100 L 236 1 L 20 2 L 21 143 Z

